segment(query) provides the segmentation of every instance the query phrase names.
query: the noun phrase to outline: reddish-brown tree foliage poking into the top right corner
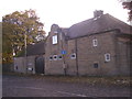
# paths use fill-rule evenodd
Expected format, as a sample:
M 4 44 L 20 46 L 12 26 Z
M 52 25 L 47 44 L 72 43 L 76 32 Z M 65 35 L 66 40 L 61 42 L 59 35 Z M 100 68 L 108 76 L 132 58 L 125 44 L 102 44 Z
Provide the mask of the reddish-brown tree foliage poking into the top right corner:
M 129 12 L 128 12 L 129 21 L 132 21 L 132 1 L 121 0 L 121 2 L 122 2 L 123 8 L 129 10 Z

